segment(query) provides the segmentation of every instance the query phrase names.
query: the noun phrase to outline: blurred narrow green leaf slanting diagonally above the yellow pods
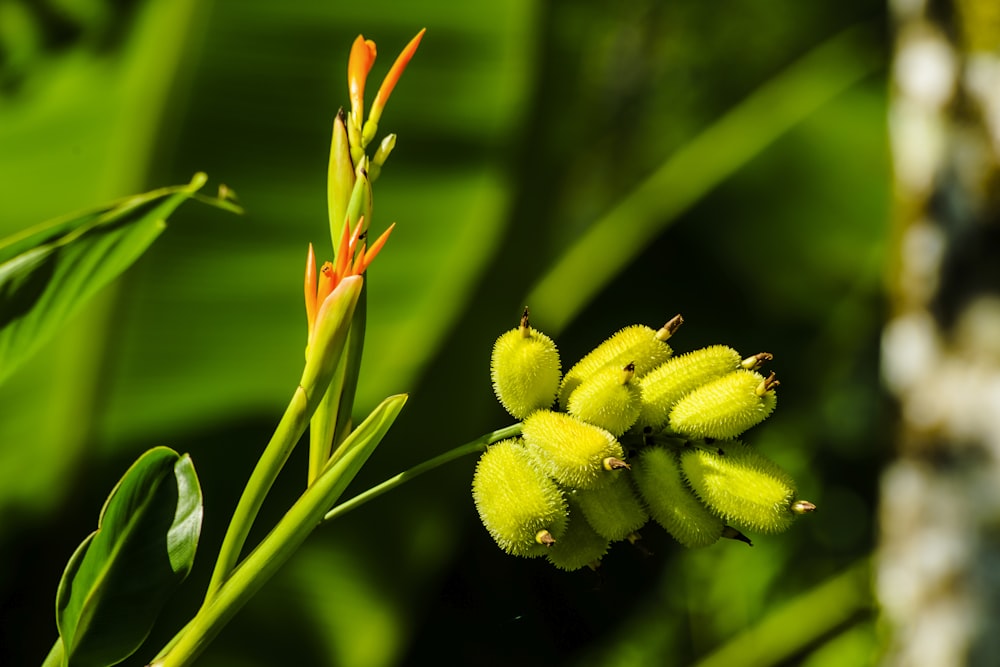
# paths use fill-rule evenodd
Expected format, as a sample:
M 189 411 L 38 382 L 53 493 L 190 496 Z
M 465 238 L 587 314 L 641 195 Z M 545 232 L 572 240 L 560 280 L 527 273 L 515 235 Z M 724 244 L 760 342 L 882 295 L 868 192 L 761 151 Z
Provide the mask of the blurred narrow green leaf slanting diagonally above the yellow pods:
M 667 158 L 581 234 L 524 299 L 545 330 L 564 329 L 681 214 L 778 137 L 881 66 L 873 26 L 816 47 Z M 607 249 L 615 248 L 609 254 Z M 567 286 L 572 285 L 572 289 Z

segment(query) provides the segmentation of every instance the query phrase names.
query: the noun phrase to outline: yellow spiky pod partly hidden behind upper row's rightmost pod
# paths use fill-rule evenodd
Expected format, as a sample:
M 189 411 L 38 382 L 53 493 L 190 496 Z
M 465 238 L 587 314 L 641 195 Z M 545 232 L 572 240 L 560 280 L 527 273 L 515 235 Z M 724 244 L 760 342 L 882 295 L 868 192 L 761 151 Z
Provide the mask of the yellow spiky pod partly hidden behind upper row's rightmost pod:
M 671 357 L 639 381 L 642 408 L 638 423 L 659 431 L 680 399 L 703 384 L 740 367 L 740 355 L 726 345 L 712 345 Z

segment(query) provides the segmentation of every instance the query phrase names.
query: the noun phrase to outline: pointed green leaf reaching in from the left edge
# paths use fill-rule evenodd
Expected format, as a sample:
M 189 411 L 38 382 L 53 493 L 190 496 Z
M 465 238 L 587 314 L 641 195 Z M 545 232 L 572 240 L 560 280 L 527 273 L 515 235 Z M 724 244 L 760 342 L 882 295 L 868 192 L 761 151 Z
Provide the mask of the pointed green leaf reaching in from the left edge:
M 131 266 L 205 180 L 196 174 L 0 240 L 0 381 Z

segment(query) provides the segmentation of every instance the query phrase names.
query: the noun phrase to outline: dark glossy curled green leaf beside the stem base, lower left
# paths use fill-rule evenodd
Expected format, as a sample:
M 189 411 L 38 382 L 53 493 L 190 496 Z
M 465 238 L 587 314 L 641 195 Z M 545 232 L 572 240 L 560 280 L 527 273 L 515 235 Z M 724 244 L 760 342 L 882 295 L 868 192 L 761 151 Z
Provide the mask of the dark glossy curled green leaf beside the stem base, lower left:
M 139 648 L 191 570 L 202 513 L 190 457 L 155 447 L 132 464 L 59 582 L 56 624 L 69 667 L 113 665 Z

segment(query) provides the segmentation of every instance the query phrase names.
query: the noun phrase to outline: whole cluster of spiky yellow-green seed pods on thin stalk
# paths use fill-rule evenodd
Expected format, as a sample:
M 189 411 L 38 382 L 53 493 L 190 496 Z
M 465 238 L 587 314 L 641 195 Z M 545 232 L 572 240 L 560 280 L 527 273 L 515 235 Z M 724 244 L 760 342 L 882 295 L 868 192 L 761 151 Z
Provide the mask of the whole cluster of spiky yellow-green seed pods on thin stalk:
M 561 372 L 525 309 L 493 347 L 493 389 L 521 435 L 490 446 L 473 477 L 479 516 L 517 556 L 596 567 L 649 519 L 682 545 L 777 533 L 815 509 L 774 462 L 736 438 L 777 402 L 767 353 L 725 345 L 674 355 L 660 329 L 622 329 Z

